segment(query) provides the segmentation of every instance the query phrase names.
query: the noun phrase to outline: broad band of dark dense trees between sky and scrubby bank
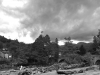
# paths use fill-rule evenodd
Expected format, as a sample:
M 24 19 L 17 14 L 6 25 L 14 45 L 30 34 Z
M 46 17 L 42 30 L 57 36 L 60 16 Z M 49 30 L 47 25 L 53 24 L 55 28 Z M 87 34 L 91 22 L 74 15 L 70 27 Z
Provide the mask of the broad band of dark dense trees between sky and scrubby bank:
M 93 43 L 73 44 L 71 37 L 65 38 L 65 40 L 65 45 L 59 46 L 57 38 L 51 42 L 49 35 L 41 34 L 34 43 L 25 44 L 0 36 L 0 50 L 6 48 L 11 53 L 12 58 L 9 60 L 9 64 L 14 65 L 51 65 L 65 56 L 70 64 L 80 63 L 83 59 L 81 56 L 88 52 L 100 54 L 100 32 L 94 36 Z M 2 59 L 0 61 L 2 62 Z M 6 62 L 8 61 L 6 60 Z

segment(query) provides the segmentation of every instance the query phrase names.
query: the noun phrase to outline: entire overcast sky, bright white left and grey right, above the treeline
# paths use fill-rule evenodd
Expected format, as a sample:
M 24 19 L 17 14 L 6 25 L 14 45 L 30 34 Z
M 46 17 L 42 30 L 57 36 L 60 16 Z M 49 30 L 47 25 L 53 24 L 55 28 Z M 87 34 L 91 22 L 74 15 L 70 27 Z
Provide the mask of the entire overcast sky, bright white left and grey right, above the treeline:
M 91 41 L 100 28 L 100 0 L 0 0 L 0 35 L 32 43 L 41 33 L 53 40 Z

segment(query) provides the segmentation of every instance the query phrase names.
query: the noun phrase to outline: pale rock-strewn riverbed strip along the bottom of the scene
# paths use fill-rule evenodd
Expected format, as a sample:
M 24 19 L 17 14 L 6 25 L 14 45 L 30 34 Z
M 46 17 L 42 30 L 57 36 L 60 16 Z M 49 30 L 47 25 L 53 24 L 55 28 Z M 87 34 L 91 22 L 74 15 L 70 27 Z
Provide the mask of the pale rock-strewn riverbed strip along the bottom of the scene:
M 22 70 L 10 69 L 0 71 L 0 75 L 65 75 L 58 74 L 58 71 L 65 72 L 66 75 L 100 75 L 99 66 L 97 65 L 67 70 L 55 70 L 53 68 L 52 70 L 48 70 L 48 67 L 25 68 Z

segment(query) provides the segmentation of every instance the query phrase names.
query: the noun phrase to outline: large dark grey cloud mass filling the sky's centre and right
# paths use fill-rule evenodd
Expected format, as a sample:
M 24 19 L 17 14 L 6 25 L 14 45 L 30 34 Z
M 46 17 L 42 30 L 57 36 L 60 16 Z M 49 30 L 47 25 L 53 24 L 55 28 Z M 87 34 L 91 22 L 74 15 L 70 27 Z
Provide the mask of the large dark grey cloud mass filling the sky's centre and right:
M 30 0 L 28 7 L 20 11 L 28 16 L 22 24 L 31 31 L 32 38 L 44 31 L 51 39 L 71 36 L 88 41 L 100 27 L 100 17 L 93 16 L 99 7 L 99 0 Z

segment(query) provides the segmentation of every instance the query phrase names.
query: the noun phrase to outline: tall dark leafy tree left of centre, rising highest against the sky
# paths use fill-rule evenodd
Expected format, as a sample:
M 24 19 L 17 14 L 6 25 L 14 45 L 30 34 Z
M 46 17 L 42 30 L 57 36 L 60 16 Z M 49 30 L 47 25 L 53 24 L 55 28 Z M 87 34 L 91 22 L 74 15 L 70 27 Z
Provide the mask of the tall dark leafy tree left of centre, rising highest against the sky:
M 47 63 L 49 57 L 50 37 L 40 35 L 32 44 L 31 57 L 36 58 L 38 63 Z

